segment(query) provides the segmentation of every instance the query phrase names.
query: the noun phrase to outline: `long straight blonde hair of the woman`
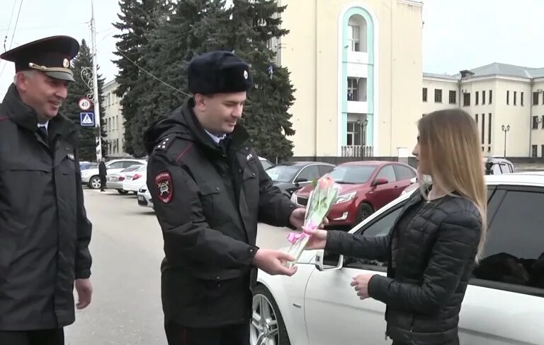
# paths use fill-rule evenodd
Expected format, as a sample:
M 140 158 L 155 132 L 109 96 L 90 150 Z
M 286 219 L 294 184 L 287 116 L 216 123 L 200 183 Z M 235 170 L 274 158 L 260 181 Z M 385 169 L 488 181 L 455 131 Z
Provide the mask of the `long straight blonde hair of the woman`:
M 419 119 L 418 129 L 419 149 L 429 161 L 433 185 L 460 194 L 480 211 L 478 262 L 487 233 L 487 187 L 477 124 L 463 110 L 438 110 Z

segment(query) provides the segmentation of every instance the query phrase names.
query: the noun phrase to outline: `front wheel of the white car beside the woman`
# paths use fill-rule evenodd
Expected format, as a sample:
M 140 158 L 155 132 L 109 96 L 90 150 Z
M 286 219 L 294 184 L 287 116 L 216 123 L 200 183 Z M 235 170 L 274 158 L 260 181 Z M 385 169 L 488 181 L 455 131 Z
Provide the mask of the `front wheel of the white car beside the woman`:
M 263 320 L 263 316 L 266 320 Z M 268 339 L 274 339 L 277 345 L 291 345 L 280 308 L 268 288 L 263 285 L 257 285 L 253 291 L 249 334 L 251 345 L 268 344 Z

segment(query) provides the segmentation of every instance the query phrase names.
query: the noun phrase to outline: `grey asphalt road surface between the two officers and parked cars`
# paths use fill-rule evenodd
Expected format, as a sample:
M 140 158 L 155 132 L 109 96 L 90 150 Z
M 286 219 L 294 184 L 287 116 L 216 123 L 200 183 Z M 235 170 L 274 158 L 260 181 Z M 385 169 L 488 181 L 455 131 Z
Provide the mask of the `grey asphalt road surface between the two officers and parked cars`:
M 65 329 L 68 345 L 166 344 L 160 298 L 162 233 L 134 195 L 86 189 L 93 228 L 91 305 Z M 284 247 L 288 230 L 259 225 L 257 245 Z

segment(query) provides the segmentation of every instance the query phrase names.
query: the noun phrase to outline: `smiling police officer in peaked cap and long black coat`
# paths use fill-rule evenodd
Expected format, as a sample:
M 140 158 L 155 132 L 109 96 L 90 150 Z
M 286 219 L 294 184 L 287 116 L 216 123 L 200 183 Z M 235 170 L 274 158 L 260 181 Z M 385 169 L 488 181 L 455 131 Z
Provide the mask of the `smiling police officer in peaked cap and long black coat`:
M 74 282 L 77 308 L 91 302 L 78 129 L 59 114 L 78 51 L 55 36 L 0 55 L 16 70 L 0 105 L 0 344 L 64 344 Z

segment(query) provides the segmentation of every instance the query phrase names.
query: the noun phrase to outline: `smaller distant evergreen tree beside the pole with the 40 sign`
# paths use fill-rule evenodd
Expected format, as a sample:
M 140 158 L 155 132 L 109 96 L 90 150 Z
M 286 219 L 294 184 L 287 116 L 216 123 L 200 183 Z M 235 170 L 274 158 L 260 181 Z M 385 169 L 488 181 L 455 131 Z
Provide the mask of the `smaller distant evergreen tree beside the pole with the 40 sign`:
M 72 71 L 74 71 L 74 83 L 69 83 L 68 86 L 68 95 L 64 101 L 62 107 L 62 113 L 72 119 L 74 124 L 79 127 L 79 158 L 81 160 L 90 160 L 96 161 L 96 136 L 98 135 L 98 129 L 96 127 L 80 127 L 79 122 L 79 113 L 82 110 L 79 109 L 78 101 L 79 98 L 84 97 L 89 93 L 89 86 L 81 78 L 81 70 L 84 67 L 91 67 L 92 64 L 92 55 L 91 49 L 86 44 L 85 40 L 81 41 L 81 46 L 79 48 L 79 53 L 77 57 L 72 60 Z M 92 76 L 92 70 L 91 70 Z M 98 78 L 98 104 L 100 105 L 100 114 L 101 114 L 101 138 L 102 138 L 102 156 L 107 156 L 107 141 L 105 140 L 106 131 L 104 128 L 104 107 L 103 107 L 103 95 L 102 88 L 104 86 L 104 79 L 100 74 Z M 89 112 L 94 112 L 94 108 L 91 107 Z

